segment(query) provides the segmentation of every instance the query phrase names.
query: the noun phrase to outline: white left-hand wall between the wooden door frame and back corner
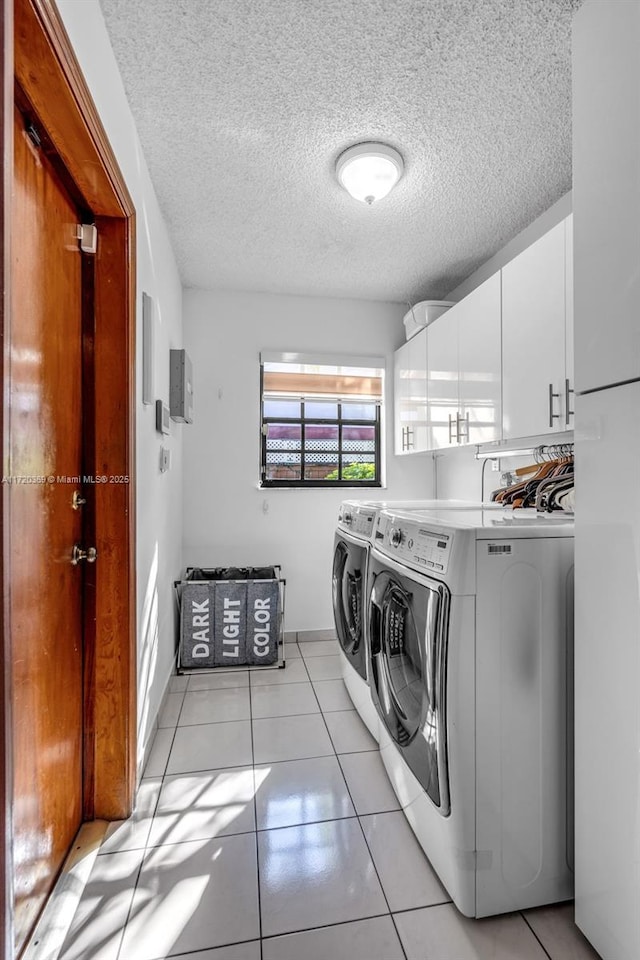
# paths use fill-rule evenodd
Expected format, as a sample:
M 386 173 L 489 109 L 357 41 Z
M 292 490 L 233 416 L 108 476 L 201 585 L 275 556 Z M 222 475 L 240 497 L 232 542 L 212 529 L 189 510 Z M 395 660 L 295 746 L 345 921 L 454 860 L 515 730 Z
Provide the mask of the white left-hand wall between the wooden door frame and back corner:
M 182 346 L 182 288 L 167 230 L 142 156 L 98 0 L 58 0 L 58 8 L 91 90 L 137 216 L 136 470 L 138 760 L 154 732 L 172 671 L 175 604 L 172 583 L 182 554 L 182 428 L 172 425 L 172 468 L 160 474 L 155 408 L 142 404 L 142 291 L 154 301 L 155 393 L 168 402 L 169 349 Z

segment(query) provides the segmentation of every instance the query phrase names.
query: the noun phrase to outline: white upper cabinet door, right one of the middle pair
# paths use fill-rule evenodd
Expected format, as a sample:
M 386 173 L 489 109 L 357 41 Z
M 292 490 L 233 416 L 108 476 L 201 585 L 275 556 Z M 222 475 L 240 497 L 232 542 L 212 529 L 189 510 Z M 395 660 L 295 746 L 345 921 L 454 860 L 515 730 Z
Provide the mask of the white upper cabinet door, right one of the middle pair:
M 502 435 L 500 274 L 489 277 L 456 307 L 460 442 Z

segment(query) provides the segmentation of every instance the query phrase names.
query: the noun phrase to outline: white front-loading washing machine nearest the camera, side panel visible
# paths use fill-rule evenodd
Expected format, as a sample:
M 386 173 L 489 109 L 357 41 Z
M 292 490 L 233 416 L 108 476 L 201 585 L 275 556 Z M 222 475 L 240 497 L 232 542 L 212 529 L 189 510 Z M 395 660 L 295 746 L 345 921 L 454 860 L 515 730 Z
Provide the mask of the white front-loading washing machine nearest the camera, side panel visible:
M 573 895 L 573 524 L 383 510 L 368 568 L 387 773 L 459 910 Z

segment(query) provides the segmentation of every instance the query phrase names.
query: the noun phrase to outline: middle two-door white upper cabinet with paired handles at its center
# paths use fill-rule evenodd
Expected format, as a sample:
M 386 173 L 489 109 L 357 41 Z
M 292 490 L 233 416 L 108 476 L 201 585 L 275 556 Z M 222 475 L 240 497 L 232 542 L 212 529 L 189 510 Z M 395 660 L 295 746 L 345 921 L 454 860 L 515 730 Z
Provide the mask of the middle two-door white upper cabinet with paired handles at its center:
M 431 447 L 498 440 L 500 274 L 451 307 L 427 331 Z

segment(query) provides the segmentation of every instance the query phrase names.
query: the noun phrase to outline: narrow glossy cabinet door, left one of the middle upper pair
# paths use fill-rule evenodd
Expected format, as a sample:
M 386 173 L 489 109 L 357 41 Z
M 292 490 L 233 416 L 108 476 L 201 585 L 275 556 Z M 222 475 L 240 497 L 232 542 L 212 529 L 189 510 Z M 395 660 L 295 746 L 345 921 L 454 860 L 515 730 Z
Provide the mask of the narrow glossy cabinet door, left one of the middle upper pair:
M 427 327 L 429 447 L 458 442 L 458 320 L 460 304 Z

